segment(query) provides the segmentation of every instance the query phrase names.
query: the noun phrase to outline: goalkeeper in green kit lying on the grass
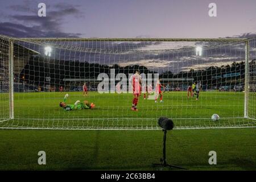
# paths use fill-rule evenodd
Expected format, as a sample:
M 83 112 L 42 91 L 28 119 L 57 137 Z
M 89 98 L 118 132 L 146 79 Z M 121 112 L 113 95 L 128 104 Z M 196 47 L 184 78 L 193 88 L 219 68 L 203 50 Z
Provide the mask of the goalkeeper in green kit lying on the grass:
M 63 102 L 60 102 L 60 107 L 63 107 L 64 110 L 80 110 L 80 109 L 93 109 L 95 105 L 93 103 L 89 104 L 88 101 L 80 102 L 76 101 L 75 104 L 67 105 L 65 102 L 67 101 L 68 94 L 65 94 Z

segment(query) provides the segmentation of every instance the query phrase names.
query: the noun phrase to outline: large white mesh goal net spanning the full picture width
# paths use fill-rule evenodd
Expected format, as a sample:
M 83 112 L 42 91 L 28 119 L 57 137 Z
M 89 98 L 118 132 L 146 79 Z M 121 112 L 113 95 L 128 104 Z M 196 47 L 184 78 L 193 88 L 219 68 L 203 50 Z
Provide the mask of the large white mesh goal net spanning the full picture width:
M 255 127 L 255 42 L 0 36 L 0 128 Z

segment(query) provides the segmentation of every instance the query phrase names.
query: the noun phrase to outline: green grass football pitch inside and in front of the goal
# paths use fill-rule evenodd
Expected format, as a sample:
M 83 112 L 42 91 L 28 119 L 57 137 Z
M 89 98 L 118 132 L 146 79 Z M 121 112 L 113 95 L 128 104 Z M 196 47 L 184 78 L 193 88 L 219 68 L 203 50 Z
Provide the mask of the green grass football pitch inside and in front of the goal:
M 58 105 L 65 93 L 15 93 L 15 119 L 0 127 L 155 129 L 162 115 L 174 118 L 177 128 L 255 126 L 242 118 L 240 92 L 201 92 L 199 101 L 170 92 L 162 104 L 141 97 L 138 112 L 130 110 L 131 94 L 68 93 L 68 104 L 88 100 L 96 109 L 63 111 Z M 210 121 L 214 113 L 220 121 Z M 162 156 L 162 137 L 161 130 L 0 130 L 0 169 L 157 170 L 151 163 Z M 191 170 L 255 170 L 255 137 L 254 128 L 173 130 L 167 133 L 167 160 Z M 40 150 L 46 151 L 45 166 L 38 164 Z M 212 150 L 217 165 L 208 163 Z

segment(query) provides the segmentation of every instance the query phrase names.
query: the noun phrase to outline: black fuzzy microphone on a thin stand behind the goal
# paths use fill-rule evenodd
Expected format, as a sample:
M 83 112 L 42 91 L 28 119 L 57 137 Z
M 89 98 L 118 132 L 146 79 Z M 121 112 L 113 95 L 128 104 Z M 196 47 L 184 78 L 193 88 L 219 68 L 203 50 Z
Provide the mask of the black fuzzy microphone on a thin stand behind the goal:
M 166 117 L 160 117 L 158 119 L 158 125 L 162 127 L 164 136 L 163 136 L 163 158 L 160 159 L 160 164 L 153 164 L 154 166 L 163 166 L 163 167 L 174 167 L 179 169 L 186 169 L 179 166 L 170 165 L 166 161 L 166 134 L 167 130 L 172 130 L 174 128 L 174 122 L 171 119 Z

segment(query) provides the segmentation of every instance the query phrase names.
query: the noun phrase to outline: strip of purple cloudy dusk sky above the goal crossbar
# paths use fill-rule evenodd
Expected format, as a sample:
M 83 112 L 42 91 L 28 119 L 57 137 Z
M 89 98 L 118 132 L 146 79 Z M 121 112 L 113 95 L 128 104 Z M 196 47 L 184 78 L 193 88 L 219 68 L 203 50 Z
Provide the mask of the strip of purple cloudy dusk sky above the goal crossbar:
M 217 17 L 208 15 L 211 2 Z M 0 34 L 18 37 L 219 38 L 255 32 L 255 0 L 0 1 Z

